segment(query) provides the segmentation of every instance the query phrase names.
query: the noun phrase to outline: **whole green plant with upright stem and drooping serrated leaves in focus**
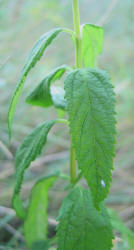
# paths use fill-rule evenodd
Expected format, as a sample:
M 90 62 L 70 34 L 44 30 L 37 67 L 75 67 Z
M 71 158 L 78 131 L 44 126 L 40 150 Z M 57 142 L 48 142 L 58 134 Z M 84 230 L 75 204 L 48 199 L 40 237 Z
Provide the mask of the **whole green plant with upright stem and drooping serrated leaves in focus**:
M 68 120 L 58 117 L 44 121 L 24 139 L 15 156 L 16 185 L 12 204 L 17 215 L 24 220 L 28 249 L 48 249 L 51 245 L 47 238 L 48 190 L 63 175 L 58 172 L 38 180 L 32 188 L 28 207 L 21 201 L 20 189 L 24 172 L 41 153 L 47 135 L 56 123 L 69 126 L 71 138 L 70 185 L 57 218 L 57 249 L 112 248 L 113 233 L 104 200 L 112 180 L 115 155 L 115 95 L 108 73 L 97 68 L 97 57 L 102 52 L 103 28 L 92 24 L 80 26 L 78 0 L 72 0 L 72 5 L 74 31 L 56 28 L 39 38 L 26 60 L 9 108 L 11 136 L 14 111 L 28 73 L 55 38 L 67 32 L 75 44 L 75 65 L 59 66 L 44 76 L 26 102 L 44 108 L 53 105 L 64 110 Z M 52 91 L 53 83 L 64 74 L 64 89 L 55 87 L 58 91 Z M 80 178 L 86 179 L 89 189 L 79 186 Z

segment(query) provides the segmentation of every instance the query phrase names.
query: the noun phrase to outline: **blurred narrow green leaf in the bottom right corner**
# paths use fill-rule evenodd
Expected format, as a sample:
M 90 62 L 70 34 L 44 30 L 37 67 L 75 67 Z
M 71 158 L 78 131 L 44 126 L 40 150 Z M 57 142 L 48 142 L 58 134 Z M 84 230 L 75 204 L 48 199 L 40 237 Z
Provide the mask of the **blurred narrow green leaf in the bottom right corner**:
M 128 227 L 126 227 L 126 225 L 121 221 L 119 215 L 113 209 L 108 209 L 108 213 L 111 218 L 113 229 L 121 233 L 123 240 L 127 242 L 127 250 L 133 250 L 134 233 Z

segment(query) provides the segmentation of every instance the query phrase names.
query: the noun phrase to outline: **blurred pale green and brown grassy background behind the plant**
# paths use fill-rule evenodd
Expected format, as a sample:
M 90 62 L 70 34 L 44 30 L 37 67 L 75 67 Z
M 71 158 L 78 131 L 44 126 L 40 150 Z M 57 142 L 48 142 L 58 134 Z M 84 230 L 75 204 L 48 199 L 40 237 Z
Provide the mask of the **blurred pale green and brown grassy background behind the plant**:
M 80 10 L 81 23 L 100 24 L 105 29 L 99 65 L 110 73 L 117 94 L 117 155 L 107 206 L 114 208 L 134 230 L 134 1 L 80 0 Z M 36 125 L 57 116 L 53 108 L 29 106 L 25 98 L 50 70 L 64 63 L 74 64 L 74 45 L 68 35 L 56 39 L 30 73 L 17 106 L 10 144 L 9 103 L 33 43 L 59 26 L 73 28 L 71 0 L 0 0 L 0 249 L 26 249 L 21 221 L 10 208 L 15 182 L 13 156 Z M 59 84 L 63 85 L 63 81 Z M 68 173 L 69 133 L 65 129 L 55 126 L 51 130 L 42 155 L 25 175 L 23 199 L 28 199 L 40 176 L 56 169 Z M 50 235 L 54 234 L 52 219 L 65 196 L 65 185 L 57 183 L 50 191 Z M 118 249 L 130 248 L 119 242 Z

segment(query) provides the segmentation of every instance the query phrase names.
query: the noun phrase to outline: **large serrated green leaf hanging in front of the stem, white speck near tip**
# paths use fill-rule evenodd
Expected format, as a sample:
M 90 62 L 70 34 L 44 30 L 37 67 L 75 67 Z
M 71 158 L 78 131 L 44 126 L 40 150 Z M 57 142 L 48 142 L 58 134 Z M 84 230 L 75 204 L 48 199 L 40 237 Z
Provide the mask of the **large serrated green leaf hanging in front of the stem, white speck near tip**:
M 109 191 L 115 155 L 113 87 L 105 71 L 79 69 L 68 74 L 65 93 L 78 166 L 99 209 Z

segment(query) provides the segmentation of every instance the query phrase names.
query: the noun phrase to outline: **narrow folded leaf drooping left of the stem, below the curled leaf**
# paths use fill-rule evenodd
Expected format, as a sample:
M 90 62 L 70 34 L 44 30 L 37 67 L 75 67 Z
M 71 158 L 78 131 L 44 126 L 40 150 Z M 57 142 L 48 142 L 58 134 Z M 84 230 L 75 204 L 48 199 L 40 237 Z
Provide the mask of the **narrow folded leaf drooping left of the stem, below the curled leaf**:
M 41 150 L 46 143 L 47 134 L 55 122 L 56 120 L 48 121 L 38 126 L 24 139 L 17 150 L 15 157 L 16 186 L 12 202 L 17 215 L 21 218 L 24 218 L 24 209 L 19 199 L 19 191 L 24 172 L 29 167 L 30 163 L 41 153 Z

